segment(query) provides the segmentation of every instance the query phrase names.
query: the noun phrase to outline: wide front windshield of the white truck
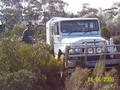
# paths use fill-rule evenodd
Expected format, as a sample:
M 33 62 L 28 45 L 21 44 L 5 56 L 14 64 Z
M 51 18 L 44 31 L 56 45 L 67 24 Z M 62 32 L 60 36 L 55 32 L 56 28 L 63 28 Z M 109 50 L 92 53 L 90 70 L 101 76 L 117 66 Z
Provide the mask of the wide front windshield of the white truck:
M 69 20 L 61 22 L 62 33 L 91 33 L 99 32 L 99 23 L 97 20 Z

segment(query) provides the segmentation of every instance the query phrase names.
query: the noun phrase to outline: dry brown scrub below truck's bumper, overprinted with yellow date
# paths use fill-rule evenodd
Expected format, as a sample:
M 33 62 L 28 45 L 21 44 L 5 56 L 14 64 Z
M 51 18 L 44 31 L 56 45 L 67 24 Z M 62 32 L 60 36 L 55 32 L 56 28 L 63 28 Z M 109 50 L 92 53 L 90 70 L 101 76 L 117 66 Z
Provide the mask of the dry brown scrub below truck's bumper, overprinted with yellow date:
M 118 68 L 119 69 L 119 68 Z M 65 90 L 119 90 L 116 68 L 105 70 L 105 60 L 99 60 L 93 70 L 76 68 L 65 81 Z

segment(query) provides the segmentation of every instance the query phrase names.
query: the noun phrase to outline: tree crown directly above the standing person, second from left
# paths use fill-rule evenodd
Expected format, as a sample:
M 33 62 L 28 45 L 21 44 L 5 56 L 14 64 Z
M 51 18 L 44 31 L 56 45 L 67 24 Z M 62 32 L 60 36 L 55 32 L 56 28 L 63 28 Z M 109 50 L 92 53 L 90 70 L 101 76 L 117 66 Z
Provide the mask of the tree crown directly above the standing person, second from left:
M 38 0 L 23 0 L 21 2 L 23 5 L 24 20 L 38 20 L 39 16 L 42 15 L 42 2 Z

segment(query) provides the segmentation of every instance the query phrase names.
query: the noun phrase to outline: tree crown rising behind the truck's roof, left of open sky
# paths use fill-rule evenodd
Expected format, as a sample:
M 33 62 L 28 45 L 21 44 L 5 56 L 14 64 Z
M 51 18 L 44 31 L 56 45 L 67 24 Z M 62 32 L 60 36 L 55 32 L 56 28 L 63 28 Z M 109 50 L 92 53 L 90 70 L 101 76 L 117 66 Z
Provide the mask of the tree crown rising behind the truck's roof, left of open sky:
M 52 17 L 63 17 L 66 16 L 64 7 L 67 5 L 66 2 L 62 0 L 45 0 L 44 3 L 44 16 L 47 19 Z

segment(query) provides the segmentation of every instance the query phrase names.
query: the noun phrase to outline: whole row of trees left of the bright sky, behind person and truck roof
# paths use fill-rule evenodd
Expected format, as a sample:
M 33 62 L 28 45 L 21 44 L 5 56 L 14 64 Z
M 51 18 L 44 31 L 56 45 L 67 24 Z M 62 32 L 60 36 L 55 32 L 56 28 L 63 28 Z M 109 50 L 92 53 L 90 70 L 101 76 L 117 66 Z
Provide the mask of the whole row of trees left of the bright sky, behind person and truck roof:
M 65 16 L 65 2 L 62 0 L 0 0 L 1 17 L 7 26 L 23 21 L 38 21 L 41 17 L 47 20 L 53 16 Z M 44 8 L 43 8 L 44 7 Z

